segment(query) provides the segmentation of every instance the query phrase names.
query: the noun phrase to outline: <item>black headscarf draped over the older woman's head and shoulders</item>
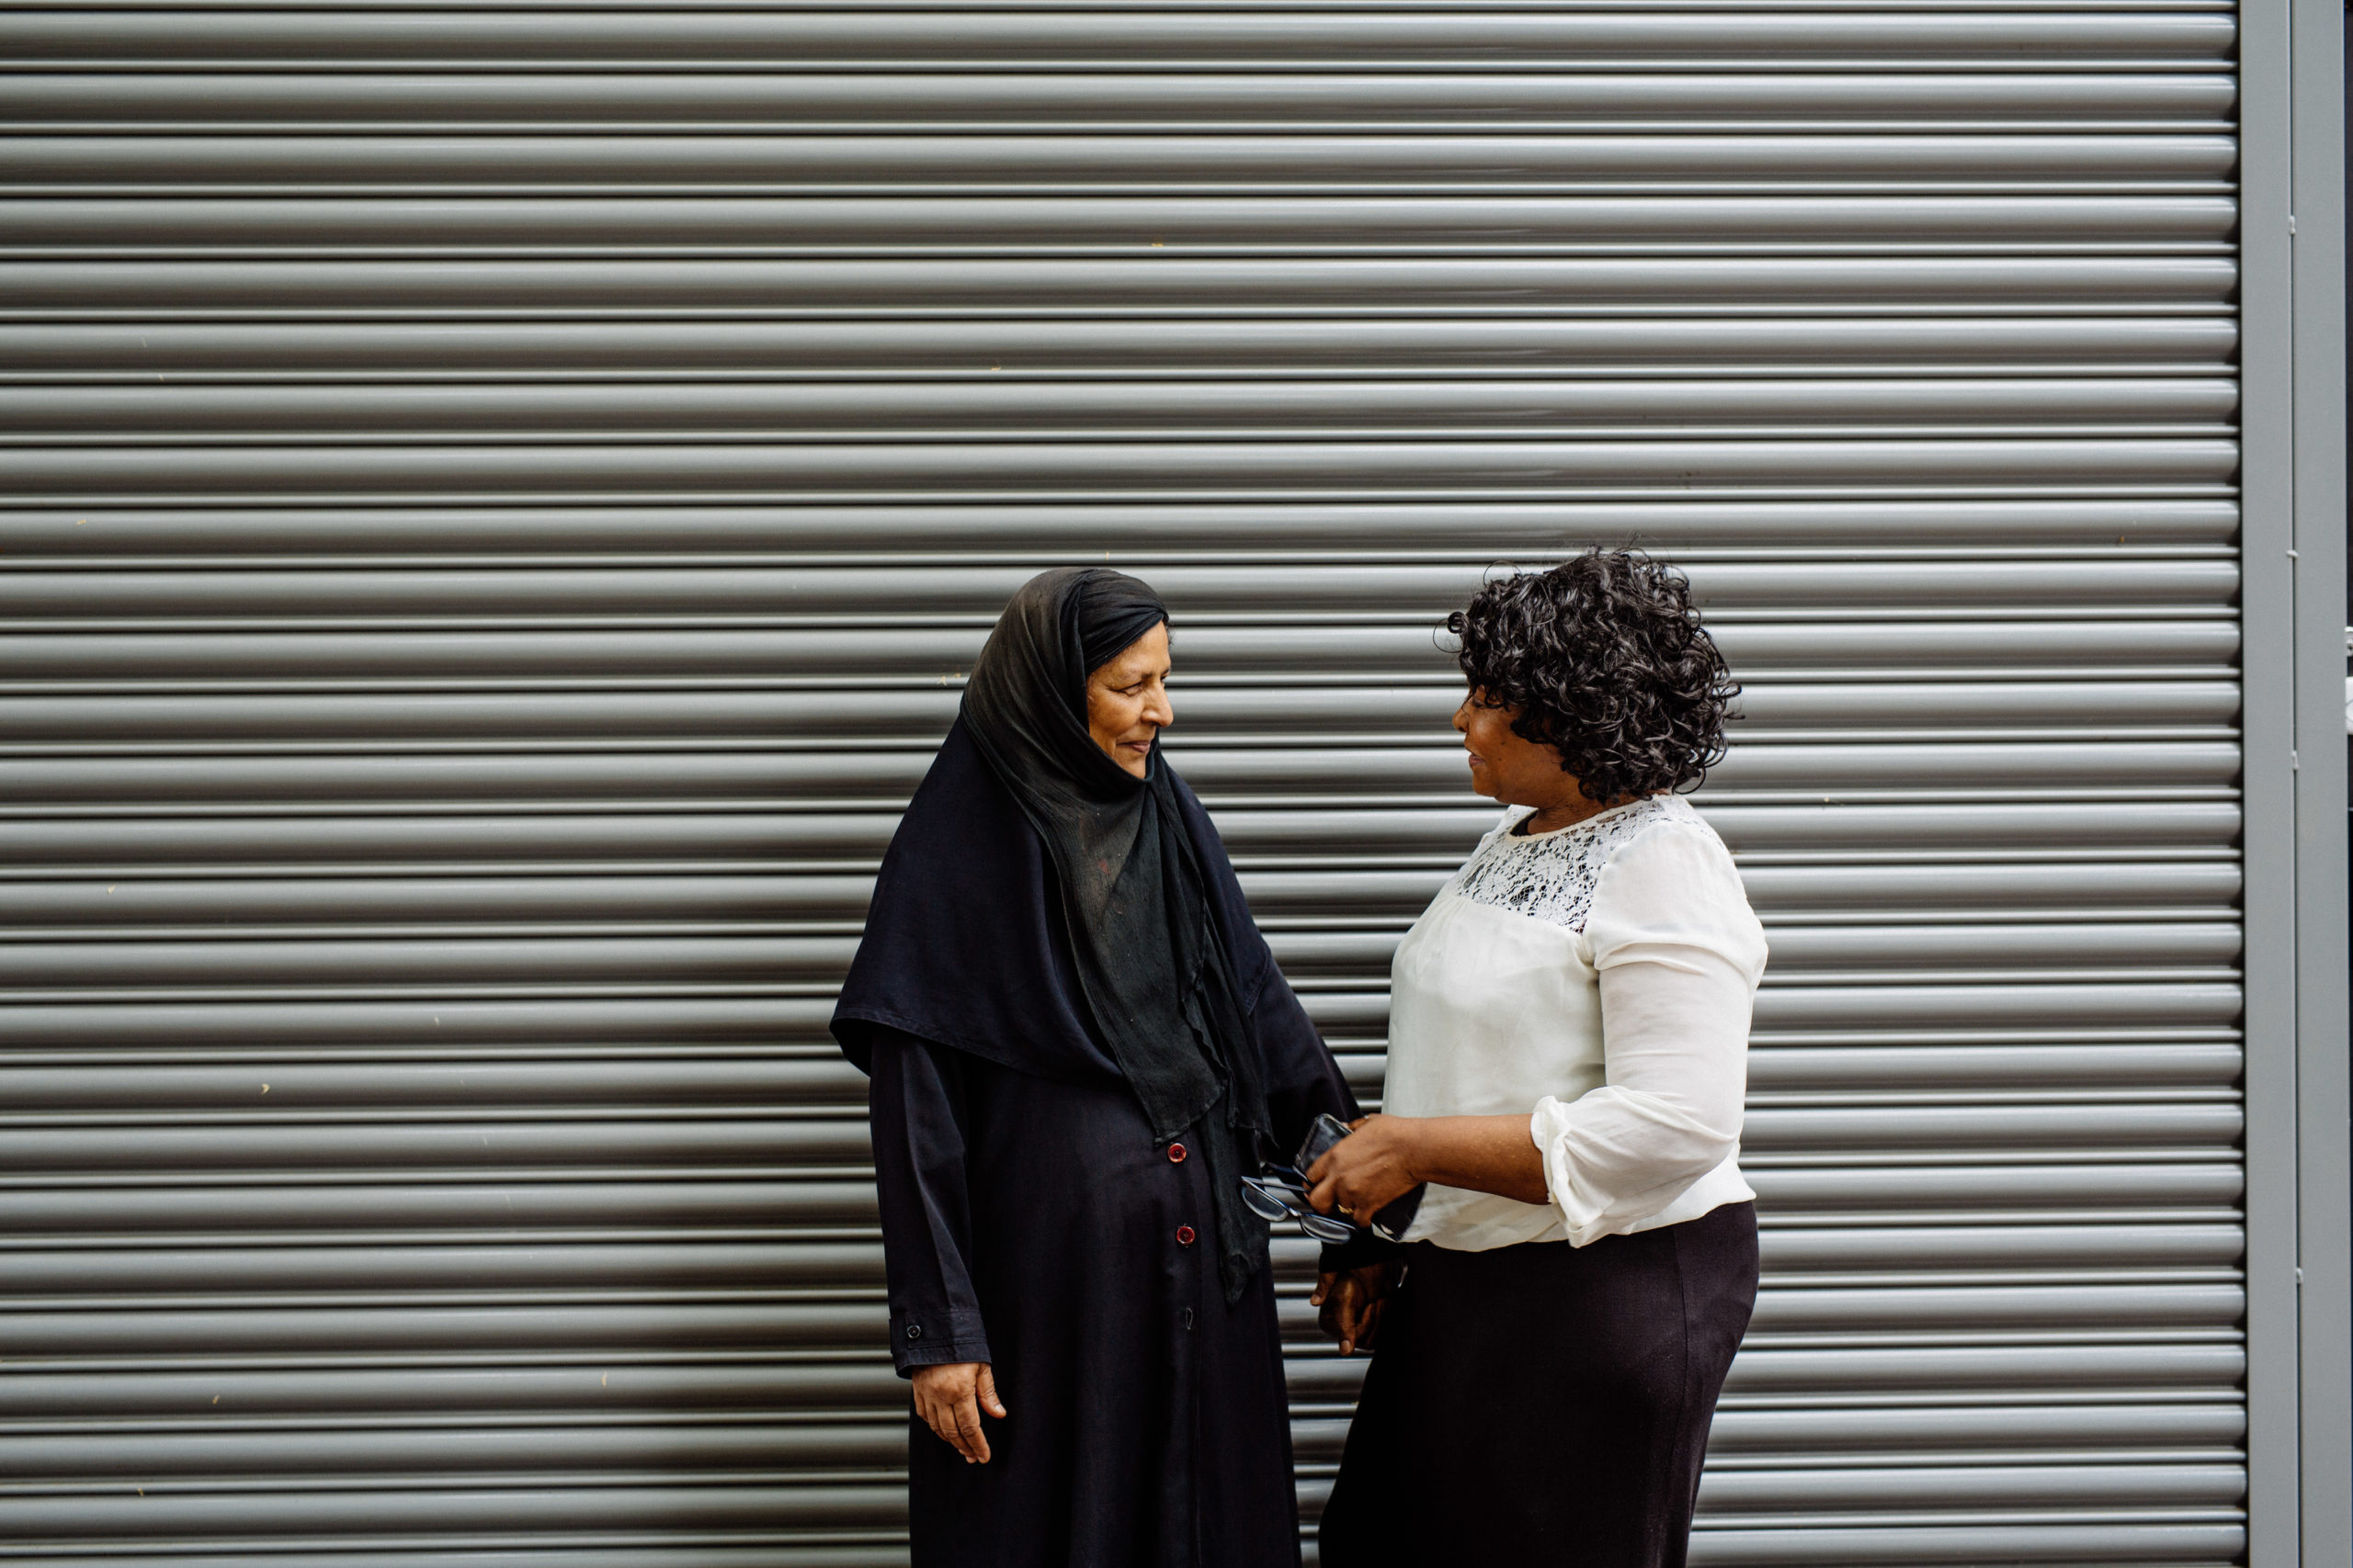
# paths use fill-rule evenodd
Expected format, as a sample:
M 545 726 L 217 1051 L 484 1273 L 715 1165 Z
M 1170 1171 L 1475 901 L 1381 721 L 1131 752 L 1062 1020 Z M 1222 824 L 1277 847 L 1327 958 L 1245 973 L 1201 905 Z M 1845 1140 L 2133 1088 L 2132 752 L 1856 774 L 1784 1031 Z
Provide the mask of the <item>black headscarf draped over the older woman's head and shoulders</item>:
M 1205 865 L 1160 748 L 1136 778 L 1087 733 L 1087 677 L 1165 618 L 1104 567 L 1012 597 L 882 858 L 833 1034 L 859 1065 L 861 1025 L 885 1025 L 1040 1077 L 1122 1077 L 1158 1143 L 1188 1133 L 1207 1157 L 1233 1302 L 1266 1255 L 1238 1178 L 1268 1126 L 1209 886 L 1233 872 L 1214 849 Z

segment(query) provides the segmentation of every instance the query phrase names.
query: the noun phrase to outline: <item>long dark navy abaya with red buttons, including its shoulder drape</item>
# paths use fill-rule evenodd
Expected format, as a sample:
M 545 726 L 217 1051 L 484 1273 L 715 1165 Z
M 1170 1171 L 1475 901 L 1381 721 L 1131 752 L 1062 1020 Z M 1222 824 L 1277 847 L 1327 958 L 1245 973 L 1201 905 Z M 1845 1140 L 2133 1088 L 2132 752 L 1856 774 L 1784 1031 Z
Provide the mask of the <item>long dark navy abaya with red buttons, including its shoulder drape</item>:
M 1174 773 L 1155 790 L 1231 983 L 1217 1060 L 1254 1088 L 1247 1117 L 1221 1095 L 1155 1133 L 1073 973 L 1045 842 L 965 724 L 892 844 L 835 1013 L 873 1074 L 899 1371 L 988 1361 L 1009 1410 L 981 1418 L 988 1465 L 911 1422 L 915 1568 L 1299 1563 L 1264 1229 L 1240 1237 L 1257 1260 L 1235 1291 L 1207 1140 L 1264 1119 L 1292 1150 L 1315 1114 L 1358 1110 L 1209 816 Z

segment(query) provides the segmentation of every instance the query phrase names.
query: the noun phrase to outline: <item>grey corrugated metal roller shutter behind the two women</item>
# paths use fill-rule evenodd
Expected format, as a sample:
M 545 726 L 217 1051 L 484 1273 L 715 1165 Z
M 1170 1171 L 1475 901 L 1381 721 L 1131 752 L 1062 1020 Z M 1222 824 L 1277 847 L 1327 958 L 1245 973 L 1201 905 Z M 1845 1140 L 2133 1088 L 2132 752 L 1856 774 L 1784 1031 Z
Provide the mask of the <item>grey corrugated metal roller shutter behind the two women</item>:
M 824 1039 L 991 611 L 1113 559 L 1367 1088 L 1438 614 L 1748 679 L 1767 1288 L 1697 1563 L 2242 1544 L 2233 24 L 0 16 L 0 1547 L 904 1559 Z M 1301 1493 L 1358 1366 L 1285 1251 Z

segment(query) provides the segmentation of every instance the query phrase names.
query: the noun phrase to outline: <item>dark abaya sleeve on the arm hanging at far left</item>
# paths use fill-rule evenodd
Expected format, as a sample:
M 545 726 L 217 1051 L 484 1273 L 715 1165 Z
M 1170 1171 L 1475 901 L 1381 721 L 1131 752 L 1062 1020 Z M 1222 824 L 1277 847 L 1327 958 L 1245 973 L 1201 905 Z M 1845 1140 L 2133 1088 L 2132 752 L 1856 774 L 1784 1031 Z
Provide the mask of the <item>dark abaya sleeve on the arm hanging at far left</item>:
M 901 1378 L 918 1366 L 988 1361 L 972 1291 L 962 1053 L 878 1030 L 866 1114 L 882 1199 L 892 1361 Z

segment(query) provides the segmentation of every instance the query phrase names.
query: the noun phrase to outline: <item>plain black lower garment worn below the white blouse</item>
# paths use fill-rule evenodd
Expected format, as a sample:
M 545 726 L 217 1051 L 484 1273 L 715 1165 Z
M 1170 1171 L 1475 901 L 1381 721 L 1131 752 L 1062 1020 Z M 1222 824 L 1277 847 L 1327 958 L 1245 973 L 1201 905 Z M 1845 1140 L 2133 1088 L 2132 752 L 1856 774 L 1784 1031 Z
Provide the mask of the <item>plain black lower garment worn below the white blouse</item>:
M 1755 1204 L 1584 1248 L 1405 1253 L 1325 1505 L 1325 1568 L 1682 1568 L 1755 1307 Z

